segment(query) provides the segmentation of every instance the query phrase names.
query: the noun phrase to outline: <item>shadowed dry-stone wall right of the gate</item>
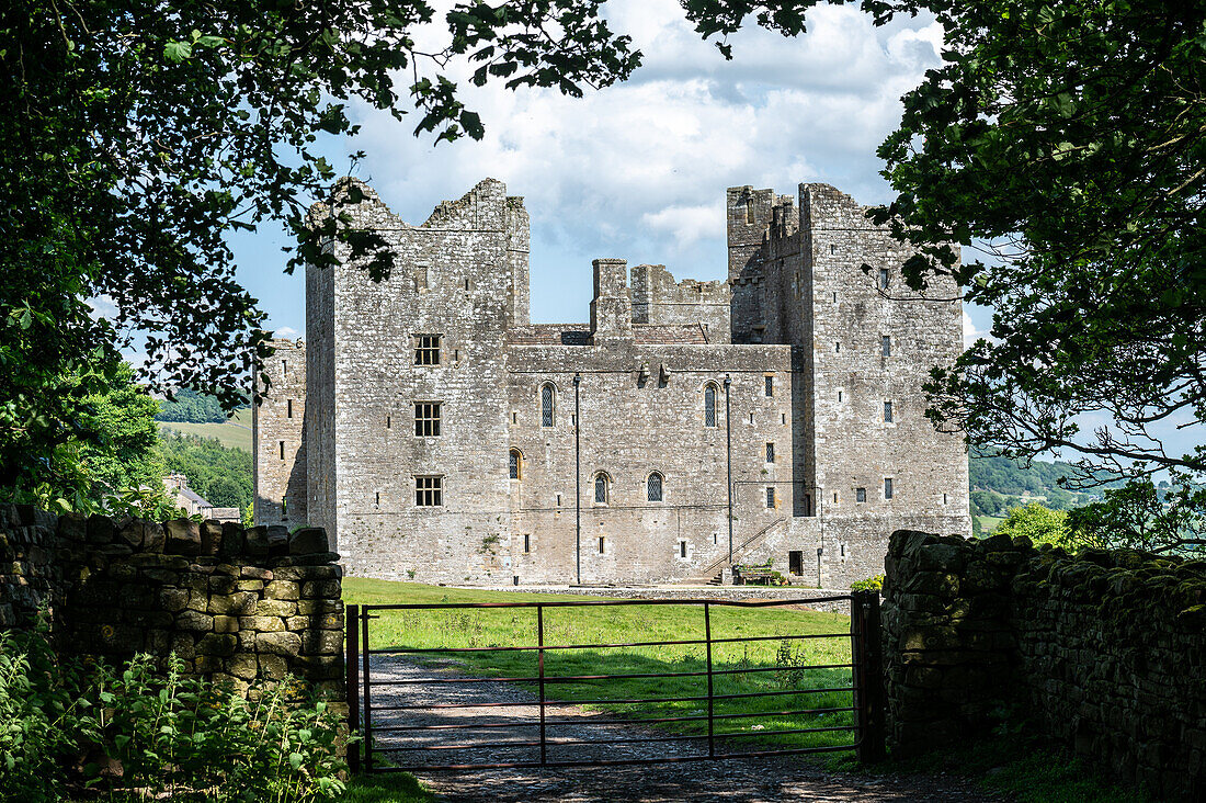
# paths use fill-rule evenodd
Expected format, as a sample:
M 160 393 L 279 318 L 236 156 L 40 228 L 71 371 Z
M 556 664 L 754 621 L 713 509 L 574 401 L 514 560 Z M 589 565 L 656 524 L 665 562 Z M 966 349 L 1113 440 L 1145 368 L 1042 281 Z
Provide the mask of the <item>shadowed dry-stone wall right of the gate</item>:
M 1159 799 L 1206 796 L 1206 561 L 900 530 L 886 570 L 897 755 L 1012 710 Z

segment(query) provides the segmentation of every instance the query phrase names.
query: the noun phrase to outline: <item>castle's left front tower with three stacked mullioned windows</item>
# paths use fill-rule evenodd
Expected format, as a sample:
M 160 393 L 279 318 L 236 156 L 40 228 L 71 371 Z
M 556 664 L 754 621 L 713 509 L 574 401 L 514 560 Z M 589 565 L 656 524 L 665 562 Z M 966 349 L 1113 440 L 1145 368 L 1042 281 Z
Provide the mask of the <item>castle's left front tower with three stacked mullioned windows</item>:
M 373 283 L 333 270 L 334 520 L 350 574 L 484 577 L 484 542 L 505 536 L 503 338 L 515 301 L 509 266 L 526 262 L 517 199 L 484 181 L 408 226 L 367 187 L 351 208 L 396 257 Z M 439 363 L 416 365 L 422 334 Z M 440 435 L 416 435 L 416 402 L 438 403 Z M 416 506 L 416 477 L 438 478 L 444 504 Z M 321 478 L 316 481 L 322 482 Z

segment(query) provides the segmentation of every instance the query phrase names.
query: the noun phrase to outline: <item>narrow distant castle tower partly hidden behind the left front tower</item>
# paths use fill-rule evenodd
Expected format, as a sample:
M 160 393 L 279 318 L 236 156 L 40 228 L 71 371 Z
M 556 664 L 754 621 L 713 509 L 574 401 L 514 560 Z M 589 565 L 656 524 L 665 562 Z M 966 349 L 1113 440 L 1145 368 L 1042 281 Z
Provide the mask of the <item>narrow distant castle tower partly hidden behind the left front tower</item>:
M 254 493 L 259 524 L 305 524 L 306 349 L 303 341 L 271 341 L 276 351 L 253 374 L 263 395 L 251 409 Z

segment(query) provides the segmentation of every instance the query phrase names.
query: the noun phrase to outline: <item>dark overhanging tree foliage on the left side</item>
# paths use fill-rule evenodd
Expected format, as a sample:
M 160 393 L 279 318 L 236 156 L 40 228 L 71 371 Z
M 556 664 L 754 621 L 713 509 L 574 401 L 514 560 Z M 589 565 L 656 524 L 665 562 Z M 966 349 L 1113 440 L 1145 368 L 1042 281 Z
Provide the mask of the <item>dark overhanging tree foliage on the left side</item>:
M 476 85 L 578 94 L 621 80 L 639 57 L 599 2 L 462 2 L 433 52 L 414 39 L 433 23 L 427 0 L 0 10 L 0 487 L 82 493 L 71 444 L 92 433 L 76 411 L 111 380 L 119 347 L 145 350 L 141 378 L 158 390 L 241 403 L 270 348 L 227 235 L 283 221 L 299 240 L 291 268 L 329 266 L 321 244 L 334 238 L 380 278 L 388 252 L 338 205 L 306 219 L 335 176 L 320 136 L 355 134 L 347 107 L 362 101 L 416 110 L 416 133 L 437 141 L 480 138 L 445 75 L 453 59 L 476 65 Z

